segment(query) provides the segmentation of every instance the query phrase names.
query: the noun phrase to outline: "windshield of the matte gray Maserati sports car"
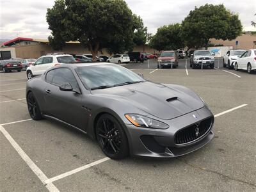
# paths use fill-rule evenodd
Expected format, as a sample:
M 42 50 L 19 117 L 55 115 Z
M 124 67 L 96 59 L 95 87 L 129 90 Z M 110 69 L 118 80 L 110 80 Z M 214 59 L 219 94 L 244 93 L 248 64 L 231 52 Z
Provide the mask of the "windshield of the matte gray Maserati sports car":
M 78 67 L 76 72 L 83 84 L 86 84 L 90 89 L 100 88 L 100 86 L 102 86 L 101 88 L 108 88 L 145 81 L 145 79 L 131 70 L 116 65 Z

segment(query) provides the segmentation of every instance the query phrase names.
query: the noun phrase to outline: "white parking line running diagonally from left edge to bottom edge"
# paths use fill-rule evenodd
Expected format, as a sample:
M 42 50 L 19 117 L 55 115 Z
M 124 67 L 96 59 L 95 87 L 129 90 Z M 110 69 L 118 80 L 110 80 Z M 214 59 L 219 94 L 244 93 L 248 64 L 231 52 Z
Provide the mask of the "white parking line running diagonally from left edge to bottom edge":
M 29 156 L 24 152 L 24 150 L 22 150 L 22 148 L 20 148 L 18 143 L 16 143 L 16 141 L 13 140 L 12 136 L 10 136 L 10 134 L 1 125 L 0 125 L 0 131 L 4 134 L 5 138 L 11 143 L 12 147 L 15 148 L 15 150 L 20 155 L 20 157 L 26 162 L 26 164 L 28 164 L 29 168 L 31 168 L 31 170 L 35 173 L 35 175 L 38 177 L 38 179 L 41 180 L 41 182 L 45 185 L 45 187 L 50 192 L 59 191 L 59 189 L 56 188 L 56 186 L 54 186 L 54 184 L 52 184 L 51 182 L 49 182 L 49 183 L 44 182 L 45 180 L 48 179 L 46 177 L 46 175 L 44 174 L 44 172 L 42 172 L 42 170 L 40 170 L 40 168 L 38 168 L 38 166 L 36 166 L 36 164 L 29 158 Z

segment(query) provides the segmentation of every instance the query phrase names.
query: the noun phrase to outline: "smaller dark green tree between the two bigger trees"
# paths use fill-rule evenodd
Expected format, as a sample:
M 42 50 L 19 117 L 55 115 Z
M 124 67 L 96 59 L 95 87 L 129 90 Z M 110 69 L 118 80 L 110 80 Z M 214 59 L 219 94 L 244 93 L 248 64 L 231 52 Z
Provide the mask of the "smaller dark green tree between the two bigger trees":
M 184 47 L 180 36 L 180 24 L 170 24 L 157 29 L 156 35 L 150 40 L 150 47 L 161 50 L 176 50 Z

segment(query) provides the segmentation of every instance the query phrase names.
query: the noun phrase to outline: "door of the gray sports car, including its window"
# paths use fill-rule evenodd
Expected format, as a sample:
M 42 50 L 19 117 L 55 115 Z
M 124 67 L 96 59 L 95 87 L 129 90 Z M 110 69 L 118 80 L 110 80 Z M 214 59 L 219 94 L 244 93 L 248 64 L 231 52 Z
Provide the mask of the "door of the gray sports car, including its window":
M 47 82 L 44 93 L 47 113 L 68 124 L 79 128 L 84 127 L 88 114 L 82 108 L 83 95 L 60 90 L 61 84 L 70 83 L 74 90 L 79 91 L 73 72 L 69 68 L 56 68 L 47 72 L 45 81 Z

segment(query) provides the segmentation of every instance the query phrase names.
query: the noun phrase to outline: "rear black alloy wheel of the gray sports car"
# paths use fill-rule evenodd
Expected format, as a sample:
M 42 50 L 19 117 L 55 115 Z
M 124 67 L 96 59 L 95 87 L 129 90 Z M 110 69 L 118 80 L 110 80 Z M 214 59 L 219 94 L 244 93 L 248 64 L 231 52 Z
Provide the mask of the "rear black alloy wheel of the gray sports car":
M 33 95 L 32 92 L 28 93 L 27 103 L 28 103 L 29 115 L 31 116 L 31 118 L 33 118 L 33 120 L 42 119 L 40 109 L 36 102 L 35 96 Z

